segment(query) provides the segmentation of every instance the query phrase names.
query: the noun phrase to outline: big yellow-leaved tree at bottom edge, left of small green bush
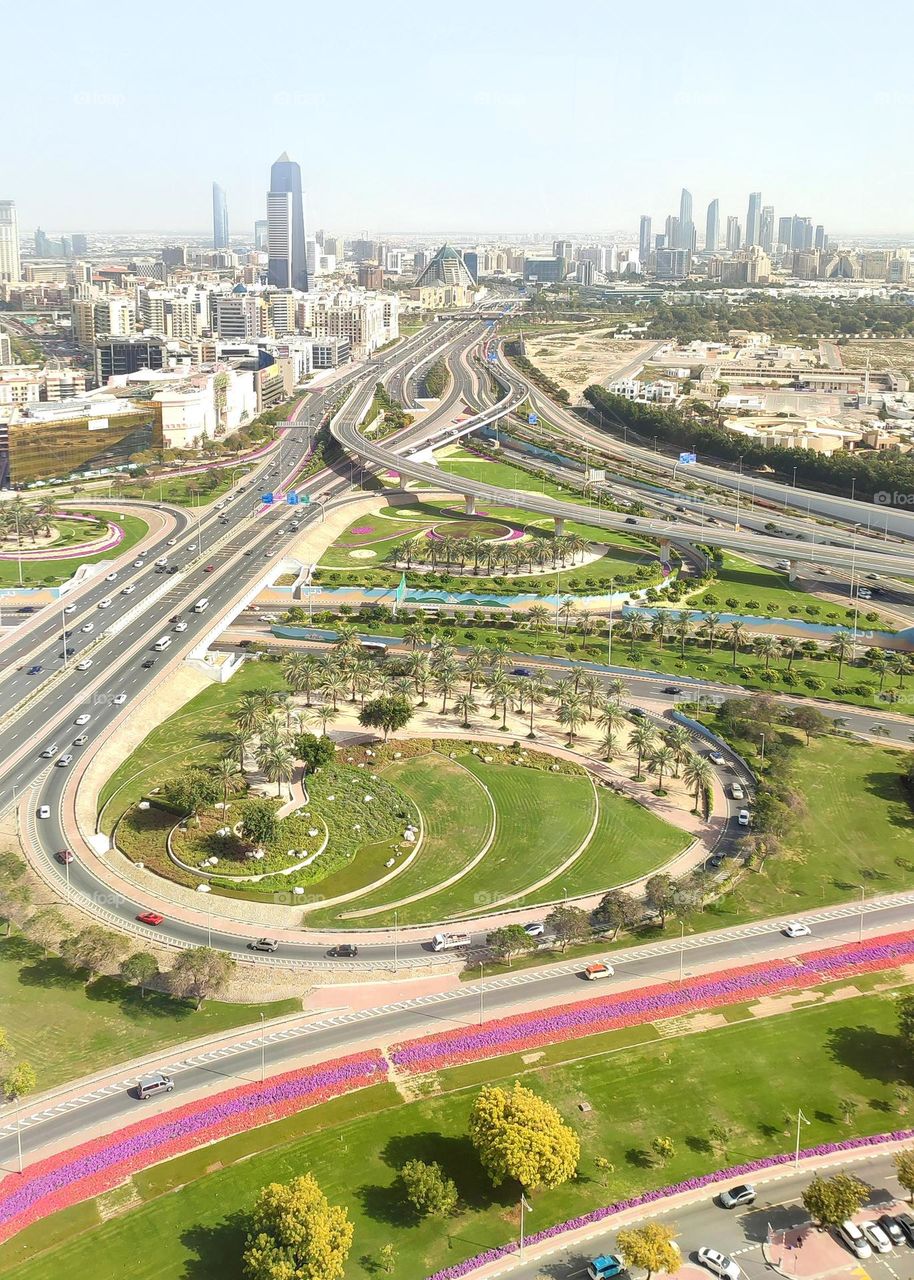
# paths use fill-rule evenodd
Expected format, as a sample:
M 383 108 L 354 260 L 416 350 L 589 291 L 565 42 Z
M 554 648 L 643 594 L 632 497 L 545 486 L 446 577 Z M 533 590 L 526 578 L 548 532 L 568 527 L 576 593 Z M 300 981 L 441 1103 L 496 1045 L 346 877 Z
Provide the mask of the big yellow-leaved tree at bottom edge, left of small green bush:
M 330 1204 L 312 1174 L 264 1187 L 245 1244 L 250 1280 L 342 1280 L 352 1248 L 346 1210 Z

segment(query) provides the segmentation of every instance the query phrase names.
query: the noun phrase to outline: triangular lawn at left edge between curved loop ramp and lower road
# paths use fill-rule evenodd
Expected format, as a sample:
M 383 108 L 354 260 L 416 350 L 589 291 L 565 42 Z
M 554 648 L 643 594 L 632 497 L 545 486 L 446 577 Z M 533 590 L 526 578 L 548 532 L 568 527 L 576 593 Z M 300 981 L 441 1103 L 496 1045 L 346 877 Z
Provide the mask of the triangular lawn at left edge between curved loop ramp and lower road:
M 113 978 L 86 986 L 56 957 L 20 934 L 0 938 L 0 1021 L 13 1052 L 31 1062 L 38 1088 L 49 1089 L 104 1066 L 198 1036 L 296 1012 L 301 1001 L 192 1004 L 140 992 Z

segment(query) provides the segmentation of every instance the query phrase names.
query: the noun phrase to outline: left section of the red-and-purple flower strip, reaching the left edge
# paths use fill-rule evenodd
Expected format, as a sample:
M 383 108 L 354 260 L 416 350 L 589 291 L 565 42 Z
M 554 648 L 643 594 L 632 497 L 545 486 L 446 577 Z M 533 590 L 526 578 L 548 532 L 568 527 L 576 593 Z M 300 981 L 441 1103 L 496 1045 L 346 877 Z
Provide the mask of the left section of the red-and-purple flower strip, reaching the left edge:
M 0 1242 L 49 1213 L 110 1190 L 161 1160 L 280 1120 L 385 1076 L 387 1062 L 380 1052 L 355 1053 L 188 1102 L 49 1156 L 29 1165 L 24 1175 L 8 1174 L 0 1181 Z

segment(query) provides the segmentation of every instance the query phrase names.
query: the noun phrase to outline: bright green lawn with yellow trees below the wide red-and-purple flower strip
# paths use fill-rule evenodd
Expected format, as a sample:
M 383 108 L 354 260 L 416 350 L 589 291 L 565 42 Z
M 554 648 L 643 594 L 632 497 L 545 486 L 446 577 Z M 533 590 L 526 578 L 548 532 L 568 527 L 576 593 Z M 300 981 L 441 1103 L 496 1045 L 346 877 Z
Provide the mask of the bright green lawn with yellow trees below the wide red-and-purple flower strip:
M 870 991 L 873 983 L 864 978 L 858 987 Z M 353 1220 L 347 1280 L 376 1272 L 388 1242 L 397 1251 L 396 1275 L 420 1280 L 517 1234 L 517 1188 L 493 1190 L 465 1137 L 476 1088 L 489 1080 L 521 1076 L 581 1140 L 577 1179 L 536 1193 L 530 1219 L 536 1229 L 650 1187 L 791 1149 L 798 1107 L 810 1121 L 803 1134 L 808 1146 L 906 1123 L 897 1117 L 896 1088 L 914 1075 L 895 1034 L 891 1000 L 863 995 L 739 1020 L 748 1016 L 745 1007 L 728 1009 L 726 1025 L 676 1038 L 634 1027 L 554 1044 L 533 1066 L 513 1056 L 451 1069 L 435 1076 L 438 1096 L 408 1105 L 385 1084 L 303 1111 L 138 1174 L 125 1192 L 102 1199 L 109 1210 L 119 1196 L 125 1212 L 101 1225 L 97 1203 L 37 1224 L 0 1248 L 0 1274 L 241 1280 L 243 1215 L 257 1190 L 310 1171 Z M 577 1110 L 581 1101 L 590 1103 L 586 1115 Z M 850 1124 L 846 1102 L 855 1107 Z M 731 1132 L 725 1151 L 712 1148 L 714 1125 Z M 675 1144 L 663 1167 L 648 1153 L 657 1135 Z M 609 1161 L 607 1179 L 597 1156 Z M 407 1212 L 397 1170 L 415 1157 L 438 1161 L 456 1180 L 461 1207 L 453 1219 L 417 1222 Z

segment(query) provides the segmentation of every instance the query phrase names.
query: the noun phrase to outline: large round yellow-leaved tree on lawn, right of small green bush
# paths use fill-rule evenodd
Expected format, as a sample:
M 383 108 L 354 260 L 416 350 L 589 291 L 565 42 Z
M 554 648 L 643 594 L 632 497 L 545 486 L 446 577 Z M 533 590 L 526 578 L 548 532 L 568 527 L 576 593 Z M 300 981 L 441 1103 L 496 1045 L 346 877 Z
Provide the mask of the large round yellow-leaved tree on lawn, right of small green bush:
M 493 1185 L 512 1178 L 521 1187 L 561 1187 L 581 1158 L 577 1134 L 552 1106 L 515 1082 L 512 1089 L 486 1085 L 470 1114 L 470 1142 Z

